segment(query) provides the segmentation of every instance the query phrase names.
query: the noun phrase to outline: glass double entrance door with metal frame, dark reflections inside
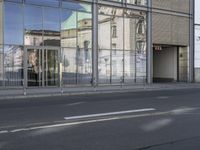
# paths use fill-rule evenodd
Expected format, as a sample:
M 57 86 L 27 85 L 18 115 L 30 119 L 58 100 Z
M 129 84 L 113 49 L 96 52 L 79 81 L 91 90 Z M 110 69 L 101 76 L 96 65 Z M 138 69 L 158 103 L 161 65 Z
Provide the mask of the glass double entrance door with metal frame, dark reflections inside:
M 57 86 L 59 81 L 58 49 L 27 48 L 27 86 Z

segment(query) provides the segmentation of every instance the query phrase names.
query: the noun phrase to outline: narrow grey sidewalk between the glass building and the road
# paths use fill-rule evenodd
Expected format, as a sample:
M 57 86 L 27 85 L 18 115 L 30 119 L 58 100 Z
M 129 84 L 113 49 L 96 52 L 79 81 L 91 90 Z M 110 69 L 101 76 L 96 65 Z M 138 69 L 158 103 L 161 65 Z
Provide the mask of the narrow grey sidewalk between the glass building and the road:
M 115 93 L 115 92 L 139 92 L 152 90 L 174 90 L 174 89 L 200 88 L 197 83 L 156 83 L 156 84 L 136 84 L 136 85 L 104 85 L 96 88 L 91 86 L 82 87 L 48 87 L 48 88 L 17 88 L 0 89 L 0 100 L 18 99 L 28 97 L 48 97 L 61 95 L 81 95 L 97 93 Z

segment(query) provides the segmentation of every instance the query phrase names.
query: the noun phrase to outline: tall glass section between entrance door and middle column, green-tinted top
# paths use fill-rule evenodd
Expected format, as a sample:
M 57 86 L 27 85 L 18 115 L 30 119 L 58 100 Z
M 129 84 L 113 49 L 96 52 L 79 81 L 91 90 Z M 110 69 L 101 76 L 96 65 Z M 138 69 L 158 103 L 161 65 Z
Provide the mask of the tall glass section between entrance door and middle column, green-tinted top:
M 90 84 L 92 80 L 91 5 L 62 2 L 62 6 L 63 84 Z

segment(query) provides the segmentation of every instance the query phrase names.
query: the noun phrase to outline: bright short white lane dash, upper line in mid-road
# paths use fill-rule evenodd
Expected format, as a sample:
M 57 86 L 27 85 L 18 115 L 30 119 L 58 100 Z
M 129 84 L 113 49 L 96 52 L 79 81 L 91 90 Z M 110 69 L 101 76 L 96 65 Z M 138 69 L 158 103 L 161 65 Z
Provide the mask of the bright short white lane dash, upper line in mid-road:
M 64 117 L 64 119 L 65 120 L 86 119 L 86 118 L 91 118 L 91 117 L 105 117 L 105 116 L 137 113 L 137 112 L 148 112 L 148 111 L 155 111 L 155 110 L 156 110 L 155 108 L 145 108 L 145 109 L 136 109 L 136 110 L 109 112 L 109 113 L 90 114 L 90 115 L 83 115 L 83 116 Z

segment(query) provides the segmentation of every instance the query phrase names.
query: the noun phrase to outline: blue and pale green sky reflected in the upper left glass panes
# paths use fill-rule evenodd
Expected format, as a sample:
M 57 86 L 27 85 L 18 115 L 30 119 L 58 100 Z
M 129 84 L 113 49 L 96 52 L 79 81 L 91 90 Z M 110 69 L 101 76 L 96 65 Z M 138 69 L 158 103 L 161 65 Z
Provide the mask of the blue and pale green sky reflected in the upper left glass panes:
M 57 0 L 27 0 L 26 2 L 41 5 L 47 2 L 55 5 L 58 3 Z M 72 2 L 63 2 L 62 5 L 64 8 L 69 8 L 70 10 L 63 9 L 61 14 L 60 8 L 34 5 L 25 5 L 23 10 L 22 4 L 5 2 L 4 43 L 23 45 L 23 26 L 25 31 L 43 30 L 59 32 L 61 27 L 60 21 L 62 21 L 62 29 L 72 29 L 77 27 L 77 19 L 91 18 L 91 15 L 87 13 L 81 13 L 78 15 L 78 18 L 76 15 L 76 10 L 90 12 L 91 5 Z

